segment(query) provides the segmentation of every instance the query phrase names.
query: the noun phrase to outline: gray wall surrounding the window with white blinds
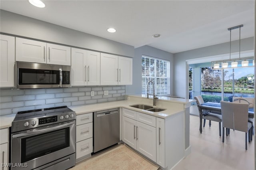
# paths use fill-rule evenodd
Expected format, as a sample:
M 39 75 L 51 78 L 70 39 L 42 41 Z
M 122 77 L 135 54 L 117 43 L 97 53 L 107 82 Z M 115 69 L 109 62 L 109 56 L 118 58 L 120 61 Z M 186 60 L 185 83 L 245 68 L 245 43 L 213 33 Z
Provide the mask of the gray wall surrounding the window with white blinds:
M 132 61 L 132 85 L 126 85 L 126 94 L 141 94 L 142 80 L 141 80 L 141 57 L 147 55 L 170 61 L 170 93 L 173 94 L 173 54 L 144 45 L 135 49 L 134 58 Z

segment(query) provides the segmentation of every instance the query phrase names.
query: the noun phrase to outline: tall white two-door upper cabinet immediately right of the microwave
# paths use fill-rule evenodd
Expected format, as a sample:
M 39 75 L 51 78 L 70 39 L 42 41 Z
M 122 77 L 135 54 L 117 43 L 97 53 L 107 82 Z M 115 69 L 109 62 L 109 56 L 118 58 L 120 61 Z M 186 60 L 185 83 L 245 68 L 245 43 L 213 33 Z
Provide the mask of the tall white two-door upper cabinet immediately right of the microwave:
M 71 85 L 100 85 L 100 53 L 72 48 Z

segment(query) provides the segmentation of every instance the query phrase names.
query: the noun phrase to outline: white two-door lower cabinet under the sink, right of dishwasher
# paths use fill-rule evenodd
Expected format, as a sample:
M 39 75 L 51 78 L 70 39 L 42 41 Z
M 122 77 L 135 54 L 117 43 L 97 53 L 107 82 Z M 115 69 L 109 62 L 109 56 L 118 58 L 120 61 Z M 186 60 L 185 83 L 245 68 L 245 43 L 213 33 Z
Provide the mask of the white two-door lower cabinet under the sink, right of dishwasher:
M 135 120 L 128 118 L 134 117 L 134 113 L 136 113 Z M 156 127 L 137 121 L 140 120 L 137 119 L 137 116 L 140 114 L 143 113 L 123 109 L 122 140 L 144 156 L 156 162 Z M 154 124 L 156 124 L 156 117 L 144 115 L 148 119 L 154 120 Z

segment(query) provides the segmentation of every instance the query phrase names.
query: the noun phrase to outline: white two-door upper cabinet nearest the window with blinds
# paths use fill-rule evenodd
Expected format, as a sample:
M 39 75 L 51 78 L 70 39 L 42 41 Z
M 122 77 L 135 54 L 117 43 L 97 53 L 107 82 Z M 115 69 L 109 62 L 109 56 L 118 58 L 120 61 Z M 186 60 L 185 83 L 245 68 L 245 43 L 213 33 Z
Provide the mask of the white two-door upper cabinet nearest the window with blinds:
M 132 58 L 100 53 L 100 84 L 131 85 Z

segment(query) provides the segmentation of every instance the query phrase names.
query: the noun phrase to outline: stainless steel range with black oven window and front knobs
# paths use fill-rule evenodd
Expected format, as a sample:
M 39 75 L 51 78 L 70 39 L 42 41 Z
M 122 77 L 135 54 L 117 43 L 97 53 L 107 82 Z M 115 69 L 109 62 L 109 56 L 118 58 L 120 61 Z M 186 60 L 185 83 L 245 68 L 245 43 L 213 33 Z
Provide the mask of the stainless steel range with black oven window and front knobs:
M 75 165 L 76 114 L 66 106 L 18 112 L 12 122 L 12 170 L 65 170 Z

